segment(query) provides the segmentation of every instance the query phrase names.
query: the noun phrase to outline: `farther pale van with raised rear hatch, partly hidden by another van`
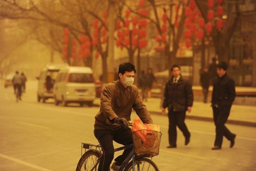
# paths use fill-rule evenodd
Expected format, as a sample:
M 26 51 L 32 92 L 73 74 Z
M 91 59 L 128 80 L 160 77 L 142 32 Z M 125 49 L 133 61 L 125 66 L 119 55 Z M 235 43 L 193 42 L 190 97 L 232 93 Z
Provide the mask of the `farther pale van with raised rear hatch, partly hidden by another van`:
M 37 86 L 37 101 L 45 100 L 49 98 L 53 98 L 53 85 L 55 83 L 55 79 L 58 75 L 58 72 L 62 68 L 68 67 L 67 63 L 48 63 L 46 67 L 40 72 Z

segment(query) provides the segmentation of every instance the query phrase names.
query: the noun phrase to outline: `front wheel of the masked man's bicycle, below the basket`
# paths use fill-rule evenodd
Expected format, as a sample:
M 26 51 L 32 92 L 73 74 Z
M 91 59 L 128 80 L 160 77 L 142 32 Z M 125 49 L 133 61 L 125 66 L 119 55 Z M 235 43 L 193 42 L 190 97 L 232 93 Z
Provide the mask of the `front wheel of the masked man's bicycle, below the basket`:
M 134 167 L 135 171 L 159 171 L 156 164 L 148 158 L 135 159 Z M 125 171 L 132 171 L 132 161 L 128 163 Z

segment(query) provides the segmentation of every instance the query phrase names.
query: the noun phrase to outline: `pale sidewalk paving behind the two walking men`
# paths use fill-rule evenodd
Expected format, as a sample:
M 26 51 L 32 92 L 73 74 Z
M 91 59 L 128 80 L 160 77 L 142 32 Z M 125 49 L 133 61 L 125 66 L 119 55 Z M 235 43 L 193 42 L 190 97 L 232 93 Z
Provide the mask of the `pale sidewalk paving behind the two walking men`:
M 162 115 L 160 98 L 148 98 L 144 104 L 153 115 Z M 100 106 L 100 98 L 94 100 L 95 105 Z M 186 113 L 186 119 L 213 122 L 211 103 L 194 101 L 192 111 Z M 166 109 L 165 115 L 167 116 Z M 232 105 L 227 123 L 256 127 L 256 106 Z

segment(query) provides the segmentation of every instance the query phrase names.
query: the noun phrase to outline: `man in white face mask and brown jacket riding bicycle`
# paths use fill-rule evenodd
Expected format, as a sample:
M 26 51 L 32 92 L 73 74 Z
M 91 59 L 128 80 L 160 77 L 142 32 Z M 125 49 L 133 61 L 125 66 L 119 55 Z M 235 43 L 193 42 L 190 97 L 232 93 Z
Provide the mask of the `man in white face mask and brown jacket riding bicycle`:
M 122 145 L 133 144 L 132 130 L 128 127 L 132 108 L 143 123 L 153 123 L 151 116 L 143 104 L 138 88 L 133 84 L 135 67 L 132 63 L 119 65 L 119 79 L 107 84 L 100 97 L 100 111 L 95 116 L 94 135 L 98 139 L 103 158 L 98 171 L 107 171 L 114 158 L 113 140 Z M 115 159 L 112 170 L 118 170 L 132 148 L 125 149 Z

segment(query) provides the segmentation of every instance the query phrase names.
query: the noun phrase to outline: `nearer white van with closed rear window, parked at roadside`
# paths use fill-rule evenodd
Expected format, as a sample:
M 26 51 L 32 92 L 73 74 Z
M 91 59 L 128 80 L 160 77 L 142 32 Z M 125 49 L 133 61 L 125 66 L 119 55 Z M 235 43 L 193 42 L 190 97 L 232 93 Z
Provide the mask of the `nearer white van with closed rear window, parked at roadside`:
M 96 97 L 96 86 L 90 67 L 70 66 L 61 69 L 53 86 L 55 105 L 62 102 L 63 106 L 68 103 L 79 103 L 80 106 L 87 104 L 92 106 Z

